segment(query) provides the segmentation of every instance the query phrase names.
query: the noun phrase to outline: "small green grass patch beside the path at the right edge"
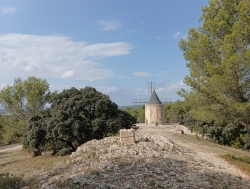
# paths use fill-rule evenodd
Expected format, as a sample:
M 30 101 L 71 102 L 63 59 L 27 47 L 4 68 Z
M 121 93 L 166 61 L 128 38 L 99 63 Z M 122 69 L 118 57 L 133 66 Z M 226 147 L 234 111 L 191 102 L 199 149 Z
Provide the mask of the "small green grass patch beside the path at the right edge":
M 231 165 L 238 167 L 250 176 L 250 157 L 237 157 L 230 154 L 221 155 L 221 157 Z

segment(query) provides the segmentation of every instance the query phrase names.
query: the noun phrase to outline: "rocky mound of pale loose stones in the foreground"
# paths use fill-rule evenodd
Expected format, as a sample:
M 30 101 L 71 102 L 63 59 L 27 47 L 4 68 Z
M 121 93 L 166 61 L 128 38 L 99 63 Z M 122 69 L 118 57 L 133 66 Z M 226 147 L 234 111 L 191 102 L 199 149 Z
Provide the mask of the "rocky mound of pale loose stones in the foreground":
M 250 188 L 244 174 L 228 171 L 223 163 L 215 164 L 212 155 L 212 161 L 208 161 L 207 155 L 201 158 L 201 152 L 176 145 L 165 137 L 168 129 L 140 127 L 135 143 L 121 142 L 120 137 L 89 141 L 72 153 L 67 162 L 40 175 L 35 188 Z M 175 135 L 175 130 L 170 133 L 172 136 L 186 136 Z

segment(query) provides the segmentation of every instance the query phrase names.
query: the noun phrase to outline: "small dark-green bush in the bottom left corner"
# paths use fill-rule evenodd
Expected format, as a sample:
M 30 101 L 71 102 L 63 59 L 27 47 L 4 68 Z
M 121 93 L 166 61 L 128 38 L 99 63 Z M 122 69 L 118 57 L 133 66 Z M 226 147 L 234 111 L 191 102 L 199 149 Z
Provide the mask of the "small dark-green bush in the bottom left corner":
M 0 188 L 18 189 L 24 184 L 21 177 L 9 173 L 0 173 Z

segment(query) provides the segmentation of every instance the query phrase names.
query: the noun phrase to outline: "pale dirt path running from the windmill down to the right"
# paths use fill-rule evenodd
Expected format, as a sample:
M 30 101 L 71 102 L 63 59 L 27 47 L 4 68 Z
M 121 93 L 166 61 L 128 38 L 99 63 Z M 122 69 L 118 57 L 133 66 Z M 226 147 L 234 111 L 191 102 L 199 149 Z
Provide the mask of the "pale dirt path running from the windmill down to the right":
M 137 131 L 138 137 L 147 133 L 166 137 L 174 143 L 176 149 L 180 153 L 188 154 L 190 158 L 194 159 L 196 162 L 209 165 L 214 171 L 221 171 L 226 174 L 232 174 L 250 180 L 248 175 L 238 168 L 228 164 L 220 157 L 222 154 L 235 154 L 235 151 L 237 151 L 237 154 L 239 155 L 249 156 L 245 151 L 221 146 L 205 139 L 196 138 L 186 127 L 181 125 L 146 126 L 144 124 L 139 124 L 139 127 L 140 129 Z M 184 130 L 185 134 L 176 134 L 176 129 Z

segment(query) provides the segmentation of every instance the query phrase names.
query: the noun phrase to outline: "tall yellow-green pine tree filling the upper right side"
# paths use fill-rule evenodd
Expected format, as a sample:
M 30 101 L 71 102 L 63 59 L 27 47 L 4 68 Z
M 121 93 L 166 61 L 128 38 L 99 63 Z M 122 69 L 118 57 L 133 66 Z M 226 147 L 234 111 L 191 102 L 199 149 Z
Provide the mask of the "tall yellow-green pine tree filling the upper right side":
M 250 132 L 250 1 L 210 0 L 201 26 L 179 43 L 196 118 L 233 120 Z M 222 121 L 222 120 L 221 120 Z

